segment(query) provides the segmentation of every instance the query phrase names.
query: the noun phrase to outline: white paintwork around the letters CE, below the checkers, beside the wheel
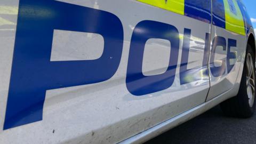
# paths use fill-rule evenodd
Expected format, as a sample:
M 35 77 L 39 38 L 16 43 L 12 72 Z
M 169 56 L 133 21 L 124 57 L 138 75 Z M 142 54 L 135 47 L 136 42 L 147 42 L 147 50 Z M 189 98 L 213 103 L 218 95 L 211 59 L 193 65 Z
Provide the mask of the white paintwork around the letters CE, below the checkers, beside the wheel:
M 222 37 L 228 37 L 229 39 L 236 39 L 237 41 L 237 45 L 235 46 L 231 46 L 230 47 L 230 51 L 229 52 L 234 52 L 235 53 L 235 58 L 234 59 L 230 59 L 230 65 L 234 65 L 230 72 L 228 73 L 228 68 L 227 68 L 227 52 L 228 52 L 228 48 L 226 48 L 226 50 L 223 50 L 223 47 L 219 46 L 216 48 L 215 50 L 215 55 L 213 55 L 213 51 L 211 49 L 211 57 L 210 57 L 210 64 L 209 67 L 211 69 L 214 69 L 214 67 L 222 67 L 223 65 L 223 69 L 219 69 L 220 71 L 222 71 L 221 73 L 223 73 L 223 75 L 221 74 L 221 76 L 214 76 L 212 74 L 212 70 L 210 72 L 210 83 L 211 83 L 211 88 L 209 91 L 209 94 L 207 96 L 207 100 L 210 100 L 214 97 L 217 97 L 219 94 L 224 93 L 228 90 L 230 90 L 235 82 L 236 82 L 236 78 L 237 78 L 237 74 L 238 71 L 243 70 L 243 58 L 245 55 L 245 41 L 246 38 L 244 36 L 241 35 L 237 35 L 234 33 L 231 33 L 230 31 L 227 31 L 223 28 L 219 28 L 219 27 L 212 27 L 212 30 L 214 31 L 214 33 L 212 33 L 212 35 L 218 35 L 218 36 L 222 36 Z M 227 42 L 227 47 L 228 47 L 228 39 L 226 40 Z M 213 56 L 215 56 L 214 58 L 212 58 Z M 214 61 L 213 61 L 214 59 Z M 212 61 L 211 61 L 212 60 Z

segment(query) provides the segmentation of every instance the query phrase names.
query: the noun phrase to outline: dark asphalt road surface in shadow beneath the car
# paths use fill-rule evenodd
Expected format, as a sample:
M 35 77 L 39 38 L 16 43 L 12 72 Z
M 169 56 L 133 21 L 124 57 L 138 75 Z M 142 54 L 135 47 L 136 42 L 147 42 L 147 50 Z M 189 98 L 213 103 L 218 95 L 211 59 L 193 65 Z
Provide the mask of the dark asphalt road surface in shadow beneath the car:
M 248 119 L 227 117 L 217 106 L 146 142 L 150 143 L 256 144 L 256 114 Z

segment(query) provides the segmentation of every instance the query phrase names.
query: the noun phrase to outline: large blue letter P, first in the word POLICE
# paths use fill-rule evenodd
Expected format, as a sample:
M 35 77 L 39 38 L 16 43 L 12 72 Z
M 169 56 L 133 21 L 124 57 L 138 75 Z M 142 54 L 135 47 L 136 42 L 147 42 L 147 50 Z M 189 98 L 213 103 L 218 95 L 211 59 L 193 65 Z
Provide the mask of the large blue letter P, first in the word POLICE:
M 51 14 L 40 14 L 44 9 Z M 97 60 L 50 61 L 54 29 L 102 35 L 102 56 Z M 114 14 L 57 1 L 20 0 L 4 130 L 41 121 L 46 90 L 111 78 L 122 49 L 123 26 Z

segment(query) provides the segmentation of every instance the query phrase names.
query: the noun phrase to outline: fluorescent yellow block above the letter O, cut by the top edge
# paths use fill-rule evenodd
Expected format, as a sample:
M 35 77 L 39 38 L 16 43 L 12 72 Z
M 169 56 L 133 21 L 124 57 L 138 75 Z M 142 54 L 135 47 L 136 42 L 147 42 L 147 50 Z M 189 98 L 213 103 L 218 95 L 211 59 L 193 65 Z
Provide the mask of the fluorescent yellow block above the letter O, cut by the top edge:
M 185 0 L 168 0 L 168 1 L 167 0 L 137 0 L 137 1 L 184 15 Z

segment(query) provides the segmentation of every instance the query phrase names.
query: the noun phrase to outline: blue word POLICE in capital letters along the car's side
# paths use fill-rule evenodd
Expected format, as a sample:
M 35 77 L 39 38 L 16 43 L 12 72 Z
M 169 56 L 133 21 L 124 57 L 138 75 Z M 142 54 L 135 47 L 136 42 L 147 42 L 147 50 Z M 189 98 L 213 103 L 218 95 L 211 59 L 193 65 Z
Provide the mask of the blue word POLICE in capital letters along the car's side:
M 41 14 L 44 10 L 51 14 Z M 50 61 L 54 29 L 102 35 L 105 42 L 102 56 L 96 60 Z M 198 71 L 187 69 L 190 35 L 191 30 L 185 28 L 180 67 L 181 85 L 197 80 L 184 80 L 189 73 Z M 112 13 L 58 1 L 20 0 L 4 130 L 41 121 L 46 90 L 99 83 L 111 78 L 121 61 L 123 36 L 122 23 Z M 142 74 L 143 51 L 150 38 L 170 41 L 171 53 L 165 73 L 145 76 Z M 224 51 L 227 49 L 227 60 L 222 61 L 221 67 L 213 65 L 217 46 L 222 46 Z M 133 95 L 145 95 L 172 86 L 178 65 L 179 47 L 179 31 L 174 26 L 150 20 L 139 22 L 131 38 L 127 90 Z M 225 62 L 229 73 L 234 67 L 229 60 L 236 58 L 230 49 L 236 47 L 236 40 L 228 39 L 226 44 L 225 38 L 217 36 L 213 39 L 212 47 L 210 70 L 213 76 L 225 74 Z M 209 51 L 210 34 L 206 33 L 203 66 L 199 68 L 203 69 L 205 76 L 209 73 Z

